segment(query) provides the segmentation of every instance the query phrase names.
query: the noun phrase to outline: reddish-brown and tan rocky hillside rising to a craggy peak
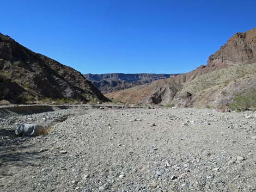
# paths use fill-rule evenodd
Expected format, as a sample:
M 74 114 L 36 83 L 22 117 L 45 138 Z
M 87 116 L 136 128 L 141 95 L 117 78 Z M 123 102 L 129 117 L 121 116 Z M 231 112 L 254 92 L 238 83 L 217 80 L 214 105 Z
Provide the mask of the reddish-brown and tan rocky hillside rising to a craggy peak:
M 147 86 L 107 94 L 122 102 L 182 107 L 227 106 L 237 94 L 256 88 L 256 28 L 236 33 L 209 57 L 207 65 Z

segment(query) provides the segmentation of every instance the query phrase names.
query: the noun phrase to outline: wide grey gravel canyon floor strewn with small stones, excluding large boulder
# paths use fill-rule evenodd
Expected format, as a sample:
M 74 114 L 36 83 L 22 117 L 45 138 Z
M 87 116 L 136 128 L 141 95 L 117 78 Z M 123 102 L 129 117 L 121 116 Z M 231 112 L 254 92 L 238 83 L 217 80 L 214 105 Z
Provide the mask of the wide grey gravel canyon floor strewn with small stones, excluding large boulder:
M 73 106 L 0 113 L 0 191 L 255 191 L 255 113 Z M 16 137 L 21 122 L 48 135 Z

